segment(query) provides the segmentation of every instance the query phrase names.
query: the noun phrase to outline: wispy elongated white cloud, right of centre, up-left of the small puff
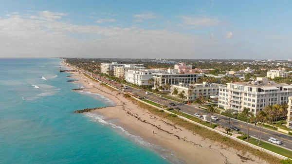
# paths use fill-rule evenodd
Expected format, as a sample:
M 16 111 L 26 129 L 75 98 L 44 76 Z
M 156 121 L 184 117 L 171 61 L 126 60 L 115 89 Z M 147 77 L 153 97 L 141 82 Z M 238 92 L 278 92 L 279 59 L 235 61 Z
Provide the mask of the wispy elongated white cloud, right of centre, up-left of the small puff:
M 188 17 L 188 16 L 177 16 L 178 18 L 183 19 L 183 24 L 191 25 L 191 26 L 216 26 L 221 22 L 216 18 L 208 18 L 208 17 Z

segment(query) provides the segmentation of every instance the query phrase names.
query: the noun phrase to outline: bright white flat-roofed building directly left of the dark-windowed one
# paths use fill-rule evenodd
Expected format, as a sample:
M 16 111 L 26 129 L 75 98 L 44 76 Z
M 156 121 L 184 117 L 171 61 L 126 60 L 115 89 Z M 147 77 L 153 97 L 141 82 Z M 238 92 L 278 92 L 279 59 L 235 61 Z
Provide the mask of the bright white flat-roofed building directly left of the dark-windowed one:
M 140 69 L 140 70 L 127 70 L 125 72 L 125 80 L 128 83 L 137 84 L 137 85 L 153 85 L 148 83 L 148 80 L 153 77 L 153 73 L 163 73 L 165 70 L 159 69 Z

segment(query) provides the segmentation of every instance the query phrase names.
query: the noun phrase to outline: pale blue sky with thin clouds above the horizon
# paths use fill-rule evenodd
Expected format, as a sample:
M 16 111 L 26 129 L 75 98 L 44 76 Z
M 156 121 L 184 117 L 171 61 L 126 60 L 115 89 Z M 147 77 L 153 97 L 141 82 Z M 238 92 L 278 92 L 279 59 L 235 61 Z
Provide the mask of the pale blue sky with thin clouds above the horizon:
M 291 59 L 291 0 L 0 0 L 0 57 Z

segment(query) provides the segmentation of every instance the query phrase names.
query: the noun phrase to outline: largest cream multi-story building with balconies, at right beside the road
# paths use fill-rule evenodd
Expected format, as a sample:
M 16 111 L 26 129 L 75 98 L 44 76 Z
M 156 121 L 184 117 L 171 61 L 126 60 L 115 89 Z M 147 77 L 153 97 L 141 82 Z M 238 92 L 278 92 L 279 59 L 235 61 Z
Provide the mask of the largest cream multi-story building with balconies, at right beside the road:
M 265 106 L 288 102 L 292 95 L 292 86 L 268 82 L 267 77 L 242 83 L 227 83 L 227 87 L 219 87 L 219 107 L 240 112 L 243 108 L 255 114 Z

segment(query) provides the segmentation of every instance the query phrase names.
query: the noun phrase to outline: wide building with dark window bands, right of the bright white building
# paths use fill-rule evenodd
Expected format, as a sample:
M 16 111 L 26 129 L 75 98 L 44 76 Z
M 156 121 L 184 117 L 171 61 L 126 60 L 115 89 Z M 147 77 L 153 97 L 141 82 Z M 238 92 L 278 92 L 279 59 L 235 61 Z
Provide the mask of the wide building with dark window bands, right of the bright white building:
M 164 86 L 166 83 L 170 85 L 195 83 L 200 76 L 199 73 L 153 73 L 154 84 L 157 86 Z

